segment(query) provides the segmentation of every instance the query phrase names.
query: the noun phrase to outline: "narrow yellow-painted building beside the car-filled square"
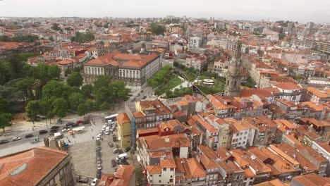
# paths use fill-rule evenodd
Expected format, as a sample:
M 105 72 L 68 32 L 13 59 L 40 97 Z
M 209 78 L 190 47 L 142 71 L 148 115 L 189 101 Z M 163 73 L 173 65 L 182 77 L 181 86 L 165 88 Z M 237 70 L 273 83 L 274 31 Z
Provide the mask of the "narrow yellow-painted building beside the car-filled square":
M 121 148 L 132 146 L 132 132 L 130 130 L 130 118 L 126 113 L 119 113 L 117 116 L 118 140 Z

